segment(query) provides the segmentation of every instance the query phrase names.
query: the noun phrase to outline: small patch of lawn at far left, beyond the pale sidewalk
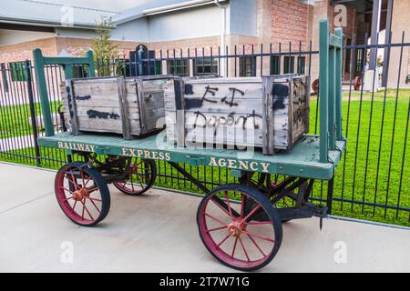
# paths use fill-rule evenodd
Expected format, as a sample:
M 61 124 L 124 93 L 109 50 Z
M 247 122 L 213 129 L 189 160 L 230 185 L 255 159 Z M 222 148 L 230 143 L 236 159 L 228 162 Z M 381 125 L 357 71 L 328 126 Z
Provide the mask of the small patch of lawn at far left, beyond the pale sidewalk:
M 51 112 L 56 113 L 58 103 L 50 102 Z M 41 115 L 41 106 L 35 104 L 36 116 Z M 0 106 L 0 139 L 24 135 L 32 135 L 33 128 L 30 125 L 30 106 L 26 105 L 6 105 Z M 37 126 L 37 130 L 44 128 Z

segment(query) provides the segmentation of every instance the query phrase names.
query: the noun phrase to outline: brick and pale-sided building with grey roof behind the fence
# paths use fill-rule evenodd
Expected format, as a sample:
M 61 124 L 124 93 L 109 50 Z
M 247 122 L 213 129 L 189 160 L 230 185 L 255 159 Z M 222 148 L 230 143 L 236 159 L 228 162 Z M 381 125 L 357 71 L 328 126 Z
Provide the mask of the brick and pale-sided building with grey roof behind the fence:
M 393 32 L 392 41 L 399 43 L 402 31 L 410 33 L 405 23 L 409 14 L 408 0 L 155 0 L 122 12 L 18 0 L 0 4 L 0 63 L 30 59 L 36 47 L 45 55 L 83 55 L 91 46 L 98 19 L 106 15 L 113 18 L 116 28 L 112 39 L 123 58 L 128 58 L 128 52 L 136 50 L 138 44 L 147 45 L 157 57 L 175 55 L 175 61 L 159 65 L 161 73 L 201 75 L 220 71 L 235 75 L 238 65 L 244 69 L 237 75 L 303 73 L 307 55 L 265 57 L 260 62 L 251 52 L 268 53 L 271 45 L 277 52 L 279 44 L 282 52 L 290 46 L 292 51 L 317 50 L 318 24 L 323 18 L 332 20 L 332 29 L 343 26 L 345 45 L 364 44 L 366 35 L 374 36 L 382 30 L 386 39 Z M 246 56 L 236 65 L 200 57 L 224 55 L 227 50 L 230 55 L 236 52 Z M 344 79 L 348 80 L 360 74 L 366 55 L 364 50 L 346 50 L 344 54 Z M 187 55 L 199 57 L 188 60 Z M 398 64 L 398 55 L 390 54 L 390 64 Z M 398 65 L 389 65 L 385 84 L 395 86 L 397 78 L 405 80 L 410 74 L 408 47 L 404 55 L 401 75 Z M 311 73 L 313 79 L 318 75 L 315 55 Z

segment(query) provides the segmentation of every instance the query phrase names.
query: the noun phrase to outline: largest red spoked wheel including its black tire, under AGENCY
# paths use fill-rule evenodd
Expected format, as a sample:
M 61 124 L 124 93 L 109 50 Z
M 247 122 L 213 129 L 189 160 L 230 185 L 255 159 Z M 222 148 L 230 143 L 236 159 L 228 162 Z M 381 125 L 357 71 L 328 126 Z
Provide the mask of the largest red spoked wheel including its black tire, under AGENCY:
M 200 203 L 197 223 L 210 254 L 241 271 L 268 265 L 282 243 L 276 210 L 249 186 L 232 184 L 211 191 Z

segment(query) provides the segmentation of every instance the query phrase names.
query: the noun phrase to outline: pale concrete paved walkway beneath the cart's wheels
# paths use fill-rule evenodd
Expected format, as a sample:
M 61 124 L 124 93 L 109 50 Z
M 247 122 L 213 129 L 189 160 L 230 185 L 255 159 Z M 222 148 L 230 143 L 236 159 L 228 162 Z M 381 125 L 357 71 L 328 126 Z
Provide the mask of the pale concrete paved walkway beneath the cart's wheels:
M 231 272 L 200 242 L 199 198 L 111 188 L 106 220 L 79 227 L 56 204 L 54 176 L 0 163 L 0 272 Z M 283 228 L 281 250 L 264 272 L 410 272 L 409 230 L 326 219 L 320 231 L 316 218 Z M 71 246 L 74 262 L 62 263 Z

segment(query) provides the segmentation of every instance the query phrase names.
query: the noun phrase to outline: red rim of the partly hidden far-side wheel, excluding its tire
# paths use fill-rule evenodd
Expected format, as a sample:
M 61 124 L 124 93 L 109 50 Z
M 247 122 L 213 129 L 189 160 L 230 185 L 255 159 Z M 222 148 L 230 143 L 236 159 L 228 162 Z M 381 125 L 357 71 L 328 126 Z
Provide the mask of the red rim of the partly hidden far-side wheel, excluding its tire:
M 125 193 L 137 195 L 145 191 L 151 176 L 152 172 L 149 163 L 140 160 L 131 165 L 131 174 L 126 181 L 115 182 L 114 184 Z

